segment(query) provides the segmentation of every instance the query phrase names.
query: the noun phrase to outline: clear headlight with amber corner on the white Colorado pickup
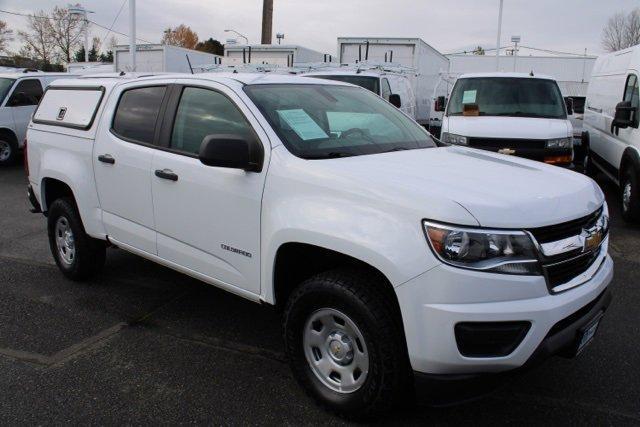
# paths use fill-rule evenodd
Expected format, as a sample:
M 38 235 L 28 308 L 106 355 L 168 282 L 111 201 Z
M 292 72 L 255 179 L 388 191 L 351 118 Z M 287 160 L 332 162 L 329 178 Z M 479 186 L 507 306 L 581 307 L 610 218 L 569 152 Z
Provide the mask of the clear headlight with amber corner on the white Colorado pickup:
M 436 256 L 455 267 L 507 274 L 539 275 L 537 249 L 523 231 L 483 230 L 423 223 Z

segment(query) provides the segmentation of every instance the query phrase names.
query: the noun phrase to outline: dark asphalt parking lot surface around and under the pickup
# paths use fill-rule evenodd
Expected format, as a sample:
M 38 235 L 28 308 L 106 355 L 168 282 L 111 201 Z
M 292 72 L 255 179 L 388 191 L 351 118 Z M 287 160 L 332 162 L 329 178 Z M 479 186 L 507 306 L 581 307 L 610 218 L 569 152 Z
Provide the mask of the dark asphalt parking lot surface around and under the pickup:
M 640 227 L 612 211 L 614 301 L 575 360 L 554 358 L 409 424 L 640 425 Z M 0 169 L 0 424 L 339 424 L 293 380 L 278 313 L 108 251 L 90 283 L 63 278 L 20 167 Z

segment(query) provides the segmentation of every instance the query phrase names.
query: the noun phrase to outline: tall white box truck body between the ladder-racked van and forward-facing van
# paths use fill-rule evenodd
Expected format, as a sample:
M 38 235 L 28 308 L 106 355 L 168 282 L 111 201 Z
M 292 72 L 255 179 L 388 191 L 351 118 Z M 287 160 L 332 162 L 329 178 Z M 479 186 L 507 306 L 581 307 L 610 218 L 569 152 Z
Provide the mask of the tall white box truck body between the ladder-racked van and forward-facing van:
M 416 70 L 409 78 L 416 95 L 416 121 L 438 128 L 442 113 L 434 111 L 438 96 L 447 96 L 449 59 L 419 38 L 338 37 L 340 63 L 392 62 Z

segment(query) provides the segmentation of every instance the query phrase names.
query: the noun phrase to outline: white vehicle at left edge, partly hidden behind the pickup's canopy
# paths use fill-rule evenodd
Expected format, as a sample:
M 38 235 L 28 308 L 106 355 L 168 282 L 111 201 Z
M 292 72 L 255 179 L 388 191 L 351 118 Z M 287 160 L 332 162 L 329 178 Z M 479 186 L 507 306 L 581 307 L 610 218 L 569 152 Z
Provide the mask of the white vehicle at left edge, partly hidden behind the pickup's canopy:
M 75 76 L 30 70 L 0 74 L 0 166 L 16 160 L 44 89 L 54 80 L 70 77 Z

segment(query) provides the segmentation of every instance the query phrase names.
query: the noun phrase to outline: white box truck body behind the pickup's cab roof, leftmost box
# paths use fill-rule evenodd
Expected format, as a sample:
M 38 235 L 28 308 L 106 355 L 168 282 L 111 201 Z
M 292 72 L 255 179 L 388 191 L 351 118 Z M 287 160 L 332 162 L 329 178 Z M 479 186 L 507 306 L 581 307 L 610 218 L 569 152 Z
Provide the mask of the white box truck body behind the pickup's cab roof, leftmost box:
M 139 44 L 136 46 L 136 67 L 134 70 L 131 66 L 129 45 L 116 46 L 114 50 L 114 65 L 117 72 L 190 73 L 191 68 L 206 64 L 219 64 L 221 60 L 220 55 L 198 50 L 162 44 Z

